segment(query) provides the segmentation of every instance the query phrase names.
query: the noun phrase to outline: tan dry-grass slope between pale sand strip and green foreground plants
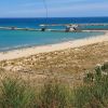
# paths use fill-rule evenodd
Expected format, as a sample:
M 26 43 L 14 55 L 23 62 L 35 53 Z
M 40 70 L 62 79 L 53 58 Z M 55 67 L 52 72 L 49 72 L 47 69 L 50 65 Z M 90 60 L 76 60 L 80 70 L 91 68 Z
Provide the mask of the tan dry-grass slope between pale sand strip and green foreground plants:
M 108 58 L 108 42 L 85 45 L 65 51 L 42 53 L 29 57 L 0 63 L 0 69 L 9 76 L 17 75 L 23 79 L 41 82 L 48 77 L 58 77 L 63 81 L 80 83 L 83 73 L 96 64 Z M 11 71 L 11 72 L 10 72 Z M 4 73 L 1 73 L 4 76 Z M 36 82 L 37 82 L 36 81 Z

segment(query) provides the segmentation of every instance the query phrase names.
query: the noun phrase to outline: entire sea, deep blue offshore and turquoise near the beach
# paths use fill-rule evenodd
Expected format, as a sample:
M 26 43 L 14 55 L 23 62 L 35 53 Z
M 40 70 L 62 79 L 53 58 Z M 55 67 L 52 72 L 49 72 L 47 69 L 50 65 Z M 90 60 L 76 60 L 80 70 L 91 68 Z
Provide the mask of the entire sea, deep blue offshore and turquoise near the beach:
M 108 24 L 108 17 L 38 17 L 38 18 L 0 18 L 0 27 L 18 27 L 40 29 L 42 24 Z M 49 27 L 50 29 L 65 29 L 65 27 Z M 91 26 L 82 29 L 92 28 Z M 108 26 L 95 26 L 108 29 Z M 28 46 L 55 44 L 90 37 L 98 37 L 104 32 L 53 32 L 53 31 L 23 31 L 0 29 L 0 52 Z

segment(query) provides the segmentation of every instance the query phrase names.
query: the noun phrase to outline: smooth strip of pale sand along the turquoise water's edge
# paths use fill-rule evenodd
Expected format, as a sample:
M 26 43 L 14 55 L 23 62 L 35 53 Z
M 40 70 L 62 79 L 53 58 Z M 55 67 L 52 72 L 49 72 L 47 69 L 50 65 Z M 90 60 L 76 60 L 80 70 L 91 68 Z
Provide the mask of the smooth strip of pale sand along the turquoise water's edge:
M 104 41 L 108 41 L 108 32 L 98 37 L 96 36 L 92 38 L 79 39 L 79 40 L 68 41 L 68 42 L 63 42 L 63 43 L 57 43 L 57 44 L 33 46 L 33 48 L 27 48 L 27 49 L 22 49 L 22 50 L 9 51 L 5 53 L 1 52 L 0 60 L 27 57 L 27 56 L 39 54 L 39 53 L 59 51 L 59 50 L 65 50 L 68 48 L 79 48 L 79 46 L 104 42 Z

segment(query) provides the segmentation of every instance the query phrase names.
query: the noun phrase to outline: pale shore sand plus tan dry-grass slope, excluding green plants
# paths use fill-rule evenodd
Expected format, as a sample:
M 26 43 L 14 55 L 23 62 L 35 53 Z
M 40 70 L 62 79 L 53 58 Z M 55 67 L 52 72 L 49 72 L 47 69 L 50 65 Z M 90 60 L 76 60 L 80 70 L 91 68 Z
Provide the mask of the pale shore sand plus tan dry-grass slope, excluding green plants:
M 65 82 L 80 83 L 87 70 L 108 62 L 108 32 L 58 44 L 2 52 L 0 60 L 1 77 L 16 76 L 39 84 L 45 78 L 57 77 Z

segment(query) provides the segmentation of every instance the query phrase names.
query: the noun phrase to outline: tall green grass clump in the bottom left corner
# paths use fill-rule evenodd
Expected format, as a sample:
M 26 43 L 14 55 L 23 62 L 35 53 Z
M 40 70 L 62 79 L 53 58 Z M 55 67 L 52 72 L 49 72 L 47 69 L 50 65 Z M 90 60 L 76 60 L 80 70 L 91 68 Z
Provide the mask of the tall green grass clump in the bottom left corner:
M 22 79 L 5 78 L 1 81 L 0 108 L 29 108 L 33 92 Z

